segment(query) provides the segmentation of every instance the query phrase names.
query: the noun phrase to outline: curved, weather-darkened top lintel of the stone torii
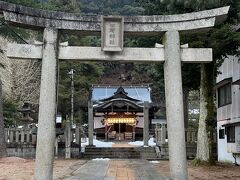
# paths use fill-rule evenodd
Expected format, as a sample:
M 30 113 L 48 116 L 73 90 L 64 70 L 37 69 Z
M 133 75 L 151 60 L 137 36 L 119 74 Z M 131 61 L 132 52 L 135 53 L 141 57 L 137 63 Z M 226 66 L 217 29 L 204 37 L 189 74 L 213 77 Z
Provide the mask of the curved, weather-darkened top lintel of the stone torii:
M 126 34 L 152 35 L 170 30 L 190 31 L 213 27 L 225 19 L 229 6 L 175 15 L 125 16 Z M 86 35 L 100 35 L 101 16 L 46 11 L 0 1 L 0 11 L 6 21 L 23 27 L 78 31 Z

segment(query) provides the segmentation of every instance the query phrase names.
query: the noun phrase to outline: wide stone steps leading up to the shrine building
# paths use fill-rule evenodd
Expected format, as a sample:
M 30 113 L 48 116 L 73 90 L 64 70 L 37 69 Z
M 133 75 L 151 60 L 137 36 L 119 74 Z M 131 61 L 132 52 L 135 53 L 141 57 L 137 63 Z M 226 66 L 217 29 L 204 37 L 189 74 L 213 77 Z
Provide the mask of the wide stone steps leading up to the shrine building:
M 86 159 L 157 159 L 154 147 L 93 147 L 87 146 L 83 155 Z

